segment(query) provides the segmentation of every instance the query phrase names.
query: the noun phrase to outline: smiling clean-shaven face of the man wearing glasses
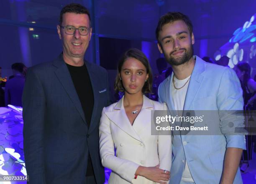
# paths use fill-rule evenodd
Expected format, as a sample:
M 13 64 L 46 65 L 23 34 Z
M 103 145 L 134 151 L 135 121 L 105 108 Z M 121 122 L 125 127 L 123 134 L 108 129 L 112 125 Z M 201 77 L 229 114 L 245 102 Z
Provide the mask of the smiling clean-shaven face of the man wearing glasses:
M 90 20 L 87 14 L 64 13 L 62 15 L 61 26 L 74 26 L 75 28 L 87 27 L 90 28 Z M 63 42 L 63 54 L 69 59 L 82 58 L 88 48 L 89 41 L 92 35 L 92 29 L 88 35 L 80 35 L 76 30 L 74 35 L 68 35 L 63 28 L 57 26 L 59 38 Z

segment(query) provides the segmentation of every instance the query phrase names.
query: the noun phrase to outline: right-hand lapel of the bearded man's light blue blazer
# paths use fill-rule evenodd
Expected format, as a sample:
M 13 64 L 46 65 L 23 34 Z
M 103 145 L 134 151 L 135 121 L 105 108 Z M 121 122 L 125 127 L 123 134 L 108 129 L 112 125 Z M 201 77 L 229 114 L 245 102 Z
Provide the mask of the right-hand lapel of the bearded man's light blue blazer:
M 204 76 L 202 75 L 204 71 L 205 71 L 204 61 L 201 58 L 196 56 L 196 62 L 191 74 L 189 86 L 187 88 L 187 94 L 186 94 L 183 110 L 191 110 L 189 108 L 191 108 L 192 101 L 195 99 L 195 96 L 200 87 L 202 79 L 204 78 Z

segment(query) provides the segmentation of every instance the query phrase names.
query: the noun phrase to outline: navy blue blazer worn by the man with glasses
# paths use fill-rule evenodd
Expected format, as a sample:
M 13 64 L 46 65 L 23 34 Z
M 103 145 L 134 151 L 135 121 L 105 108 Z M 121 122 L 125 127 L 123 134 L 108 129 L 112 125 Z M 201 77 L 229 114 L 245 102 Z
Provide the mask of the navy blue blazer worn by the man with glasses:
M 90 127 L 62 54 L 28 69 L 23 91 L 24 155 L 30 184 L 84 184 L 88 153 L 97 184 L 105 181 L 99 122 L 109 104 L 104 68 L 86 63 L 94 107 Z

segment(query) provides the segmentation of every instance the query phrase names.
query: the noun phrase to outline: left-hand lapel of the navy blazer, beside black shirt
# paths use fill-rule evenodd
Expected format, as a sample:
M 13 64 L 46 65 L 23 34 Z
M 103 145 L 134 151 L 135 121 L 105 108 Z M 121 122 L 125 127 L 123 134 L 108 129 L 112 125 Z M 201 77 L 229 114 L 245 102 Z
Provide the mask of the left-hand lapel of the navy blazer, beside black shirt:
M 69 70 L 62 58 L 62 54 L 59 56 L 59 59 L 54 61 L 54 66 L 56 66 L 55 74 L 57 78 L 59 79 L 60 83 L 62 84 L 63 88 L 67 92 L 69 98 L 74 103 L 74 106 L 77 108 L 77 111 L 81 115 L 82 120 L 87 125 L 84 117 L 84 111 L 82 109 L 81 102 L 79 100 L 79 97 L 77 95 L 77 91 L 74 87 L 72 78 L 69 74 Z

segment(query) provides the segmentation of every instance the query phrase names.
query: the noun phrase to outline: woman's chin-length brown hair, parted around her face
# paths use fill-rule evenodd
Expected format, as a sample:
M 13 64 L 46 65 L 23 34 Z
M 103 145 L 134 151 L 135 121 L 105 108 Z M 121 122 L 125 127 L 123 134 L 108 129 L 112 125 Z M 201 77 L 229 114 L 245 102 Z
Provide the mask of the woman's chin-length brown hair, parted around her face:
M 151 89 L 152 89 L 152 83 L 153 83 L 153 75 L 152 75 L 152 71 L 151 71 L 151 67 L 150 64 L 148 62 L 148 58 L 146 57 L 146 55 L 141 52 L 141 50 L 138 50 L 136 48 L 131 48 L 129 50 L 127 50 L 125 53 L 123 53 L 123 55 L 121 56 L 119 63 L 118 63 L 118 71 L 117 71 L 117 75 L 115 77 L 115 84 L 114 84 L 114 89 L 115 92 L 124 92 L 125 88 L 123 87 L 123 83 L 120 79 L 120 72 L 123 66 L 123 63 L 125 62 L 125 60 L 127 60 L 128 58 L 135 58 L 137 60 L 139 60 L 146 68 L 146 72 L 148 74 L 148 80 L 144 83 L 144 86 L 142 88 L 142 93 L 151 93 Z

